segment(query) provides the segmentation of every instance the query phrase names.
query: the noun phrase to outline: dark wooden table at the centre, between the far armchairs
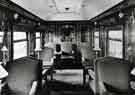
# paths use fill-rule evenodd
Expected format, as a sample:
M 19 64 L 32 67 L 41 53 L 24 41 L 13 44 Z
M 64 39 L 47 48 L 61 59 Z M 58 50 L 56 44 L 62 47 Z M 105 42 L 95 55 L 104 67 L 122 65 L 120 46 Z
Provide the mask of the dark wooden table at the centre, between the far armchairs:
M 83 84 L 86 84 L 86 69 L 82 65 L 82 63 L 77 64 L 75 62 L 75 59 L 72 56 L 63 56 L 61 57 L 61 60 L 57 63 L 54 63 L 50 65 L 48 68 L 48 71 L 51 74 L 51 80 L 53 80 L 53 72 L 54 70 L 64 70 L 64 69 L 82 69 L 83 70 Z

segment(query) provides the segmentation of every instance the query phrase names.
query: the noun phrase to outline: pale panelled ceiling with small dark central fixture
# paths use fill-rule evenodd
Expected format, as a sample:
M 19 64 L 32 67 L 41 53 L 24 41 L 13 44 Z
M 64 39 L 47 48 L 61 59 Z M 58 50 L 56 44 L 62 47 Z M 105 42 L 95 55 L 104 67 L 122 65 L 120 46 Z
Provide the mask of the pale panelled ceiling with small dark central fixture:
M 12 0 L 45 20 L 88 20 L 122 0 Z

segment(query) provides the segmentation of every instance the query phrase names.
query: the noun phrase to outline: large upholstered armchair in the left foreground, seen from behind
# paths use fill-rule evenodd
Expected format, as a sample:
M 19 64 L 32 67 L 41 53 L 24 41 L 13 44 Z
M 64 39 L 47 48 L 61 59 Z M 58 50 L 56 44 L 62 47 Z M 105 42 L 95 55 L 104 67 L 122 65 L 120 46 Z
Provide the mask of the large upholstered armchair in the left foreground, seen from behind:
M 8 62 L 3 95 L 37 95 L 42 88 L 42 61 L 23 57 Z

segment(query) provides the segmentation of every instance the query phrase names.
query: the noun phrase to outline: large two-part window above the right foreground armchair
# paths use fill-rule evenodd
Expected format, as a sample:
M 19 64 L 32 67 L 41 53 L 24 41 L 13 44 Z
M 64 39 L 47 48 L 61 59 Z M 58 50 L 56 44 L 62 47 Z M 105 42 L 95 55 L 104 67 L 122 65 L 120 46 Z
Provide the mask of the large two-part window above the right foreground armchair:
M 109 31 L 109 56 L 122 58 L 123 57 L 123 34 L 122 30 Z

